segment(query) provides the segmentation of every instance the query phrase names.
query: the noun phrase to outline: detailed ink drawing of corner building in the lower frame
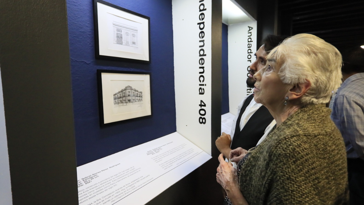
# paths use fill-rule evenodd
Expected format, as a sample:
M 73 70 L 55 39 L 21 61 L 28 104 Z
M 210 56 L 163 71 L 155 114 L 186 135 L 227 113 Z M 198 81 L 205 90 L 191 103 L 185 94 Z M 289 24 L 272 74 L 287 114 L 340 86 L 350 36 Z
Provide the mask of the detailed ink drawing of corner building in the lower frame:
M 126 86 L 124 89 L 114 94 L 114 105 L 127 105 L 128 103 L 142 102 L 143 92 L 132 88 L 131 86 Z

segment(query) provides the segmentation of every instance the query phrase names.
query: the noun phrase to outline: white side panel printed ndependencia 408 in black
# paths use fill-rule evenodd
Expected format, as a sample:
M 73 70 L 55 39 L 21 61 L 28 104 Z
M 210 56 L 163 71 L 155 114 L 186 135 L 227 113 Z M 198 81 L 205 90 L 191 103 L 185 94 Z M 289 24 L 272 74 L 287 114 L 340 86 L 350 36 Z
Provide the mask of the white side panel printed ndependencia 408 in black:
M 211 0 L 172 0 L 172 15 L 177 132 L 211 155 Z

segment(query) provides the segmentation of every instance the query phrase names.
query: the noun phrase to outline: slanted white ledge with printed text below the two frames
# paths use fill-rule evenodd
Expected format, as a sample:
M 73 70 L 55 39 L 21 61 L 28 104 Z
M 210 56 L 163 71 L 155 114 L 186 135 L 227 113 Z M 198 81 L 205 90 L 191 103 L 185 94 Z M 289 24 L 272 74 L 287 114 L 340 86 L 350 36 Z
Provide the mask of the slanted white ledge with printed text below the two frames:
M 144 205 L 211 156 L 174 132 L 77 167 L 80 205 Z

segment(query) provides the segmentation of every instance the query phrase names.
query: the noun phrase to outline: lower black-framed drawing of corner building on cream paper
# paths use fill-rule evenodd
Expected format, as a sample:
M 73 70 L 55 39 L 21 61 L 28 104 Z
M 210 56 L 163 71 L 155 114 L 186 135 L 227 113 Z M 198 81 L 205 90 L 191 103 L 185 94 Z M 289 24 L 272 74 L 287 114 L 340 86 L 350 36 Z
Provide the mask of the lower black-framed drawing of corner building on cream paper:
M 100 125 L 152 115 L 150 73 L 97 70 Z

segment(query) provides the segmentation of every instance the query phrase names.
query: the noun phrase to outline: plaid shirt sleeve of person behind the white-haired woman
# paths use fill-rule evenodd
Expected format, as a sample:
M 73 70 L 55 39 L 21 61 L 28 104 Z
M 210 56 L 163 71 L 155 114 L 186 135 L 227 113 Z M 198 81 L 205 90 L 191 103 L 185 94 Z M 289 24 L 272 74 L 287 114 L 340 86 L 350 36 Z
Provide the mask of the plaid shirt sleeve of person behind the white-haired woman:
M 363 100 L 347 95 L 336 96 L 331 119 L 343 135 L 347 148 L 349 142 L 357 156 L 364 160 Z

